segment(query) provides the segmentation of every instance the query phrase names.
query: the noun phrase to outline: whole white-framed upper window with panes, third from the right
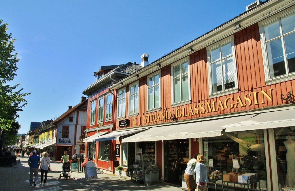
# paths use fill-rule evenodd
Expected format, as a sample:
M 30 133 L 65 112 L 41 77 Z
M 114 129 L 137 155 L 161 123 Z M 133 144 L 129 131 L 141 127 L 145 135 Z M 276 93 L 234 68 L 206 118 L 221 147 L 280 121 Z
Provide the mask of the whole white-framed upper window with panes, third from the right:
M 189 57 L 171 65 L 172 105 L 190 101 Z

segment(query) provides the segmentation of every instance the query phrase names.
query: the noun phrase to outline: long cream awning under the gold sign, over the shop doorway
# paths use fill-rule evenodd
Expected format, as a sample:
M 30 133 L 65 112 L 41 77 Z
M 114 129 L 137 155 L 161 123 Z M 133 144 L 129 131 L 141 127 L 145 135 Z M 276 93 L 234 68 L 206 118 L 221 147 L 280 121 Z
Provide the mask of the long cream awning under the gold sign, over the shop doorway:
M 254 115 L 244 115 L 227 118 L 215 118 L 193 123 L 152 127 L 146 131 L 122 139 L 122 142 L 160 141 L 220 136 L 223 129 L 225 129 L 225 125 L 236 123 L 253 116 Z

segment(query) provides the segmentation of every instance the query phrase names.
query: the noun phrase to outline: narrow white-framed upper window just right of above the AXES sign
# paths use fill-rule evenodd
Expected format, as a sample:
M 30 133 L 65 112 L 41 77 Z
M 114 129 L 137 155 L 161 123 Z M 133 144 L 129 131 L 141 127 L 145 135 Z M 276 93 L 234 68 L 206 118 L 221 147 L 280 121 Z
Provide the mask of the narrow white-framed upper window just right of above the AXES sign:
M 129 115 L 138 114 L 138 93 L 139 83 L 133 83 L 129 86 Z

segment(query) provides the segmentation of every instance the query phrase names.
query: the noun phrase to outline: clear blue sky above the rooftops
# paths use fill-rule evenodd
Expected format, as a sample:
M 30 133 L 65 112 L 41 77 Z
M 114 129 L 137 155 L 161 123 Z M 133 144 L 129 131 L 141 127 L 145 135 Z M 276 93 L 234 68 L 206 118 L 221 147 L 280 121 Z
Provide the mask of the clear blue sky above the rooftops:
M 20 59 L 11 84 L 31 93 L 19 112 L 19 133 L 80 103 L 101 66 L 140 64 L 144 53 L 151 63 L 254 1 L 1 0 L 0 19 L 17 39 Z

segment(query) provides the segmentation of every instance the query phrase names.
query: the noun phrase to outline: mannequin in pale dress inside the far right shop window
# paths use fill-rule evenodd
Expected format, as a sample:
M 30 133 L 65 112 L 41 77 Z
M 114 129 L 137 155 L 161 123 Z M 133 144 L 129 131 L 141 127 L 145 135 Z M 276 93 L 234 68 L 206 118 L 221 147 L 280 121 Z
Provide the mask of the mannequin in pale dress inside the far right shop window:
M 287 140 L 284 141 L 284 144 L 287 149 L 286 153 L 286 161 L 287 161 L 287 174 L 286 174 L 286 182 L 285 186 L 289 188 L 295 187 L 295 178 L 294 178 L 294 172 L 295 172 L 295 141 L 291 139 L 291 137 L 288 135 Z

